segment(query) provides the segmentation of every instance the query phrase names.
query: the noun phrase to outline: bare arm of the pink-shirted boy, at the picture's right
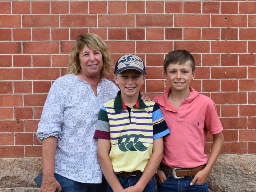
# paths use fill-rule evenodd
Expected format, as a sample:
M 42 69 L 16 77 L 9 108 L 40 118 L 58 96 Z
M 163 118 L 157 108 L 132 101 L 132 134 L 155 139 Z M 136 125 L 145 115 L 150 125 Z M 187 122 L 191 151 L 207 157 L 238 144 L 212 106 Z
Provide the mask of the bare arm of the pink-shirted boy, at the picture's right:
M 202 184 L 207 181 L 208 176 L 211 173 L 211 170 L 213 168 L 213 165 L 215 164 L 215 162 L 219 157 L 219 154 L 221 153 L 221 148 L 224 142 L 223 133 L 220 132 L 220 133 L 214 134 L 212 135 L 212 137 L 213 137 L 213 143 L 211 146 L 211 152 L 210 152 L 210 156 L 206 164 L 206 167 L 195 175 L 190 185 L 194 185 L 195 183 Z

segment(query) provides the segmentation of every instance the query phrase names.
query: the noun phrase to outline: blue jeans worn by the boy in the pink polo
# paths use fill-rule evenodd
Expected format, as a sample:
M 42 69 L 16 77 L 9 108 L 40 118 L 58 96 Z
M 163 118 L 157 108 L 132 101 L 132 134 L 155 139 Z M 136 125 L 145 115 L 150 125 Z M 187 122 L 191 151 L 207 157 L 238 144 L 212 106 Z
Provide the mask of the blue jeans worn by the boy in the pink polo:
M 183 179 L 174 179 L 172 174 L 164 172 L 166 180 L 163 183 L 157 184 L 158 192 L 208 192 L 208 181 L 204 184 L 190 186 L 192 177 L 184 177 Z

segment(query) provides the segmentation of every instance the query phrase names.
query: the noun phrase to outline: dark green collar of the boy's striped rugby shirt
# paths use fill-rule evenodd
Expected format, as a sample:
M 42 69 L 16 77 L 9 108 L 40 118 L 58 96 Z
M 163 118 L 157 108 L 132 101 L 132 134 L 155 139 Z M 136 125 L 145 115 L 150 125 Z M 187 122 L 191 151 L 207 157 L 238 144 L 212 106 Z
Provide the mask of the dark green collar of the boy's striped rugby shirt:
M 145 103 L 141 100 L 140 92 L 139 92 L 139 98 L 135 104 L 135 107 L 142 108 L 142 109 L 147 108 L 147 105 L 145 105 Z M 122 99 L 121 99 L 121 90 L 119 90 L 119 92 L 117 93 L 117 96 L 115 98 L 114 109 L 115 109 L 115 113 L 119 113 L 120 111 L 126 109 L 126 105 L 124 104 L 124 102 L 122 102 Z

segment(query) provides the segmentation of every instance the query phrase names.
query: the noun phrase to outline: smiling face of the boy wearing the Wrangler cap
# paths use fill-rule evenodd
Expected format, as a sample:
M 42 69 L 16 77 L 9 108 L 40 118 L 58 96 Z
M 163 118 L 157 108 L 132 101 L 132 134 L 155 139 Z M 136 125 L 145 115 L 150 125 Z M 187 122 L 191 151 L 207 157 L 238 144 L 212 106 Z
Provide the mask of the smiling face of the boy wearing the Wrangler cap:
M 135 69 L 127 69 L 120 74 L 113 75 L 115 83 L 121 90 L 121 98 L 138 97 L 139 90 L 145 82 L 145 76 Z

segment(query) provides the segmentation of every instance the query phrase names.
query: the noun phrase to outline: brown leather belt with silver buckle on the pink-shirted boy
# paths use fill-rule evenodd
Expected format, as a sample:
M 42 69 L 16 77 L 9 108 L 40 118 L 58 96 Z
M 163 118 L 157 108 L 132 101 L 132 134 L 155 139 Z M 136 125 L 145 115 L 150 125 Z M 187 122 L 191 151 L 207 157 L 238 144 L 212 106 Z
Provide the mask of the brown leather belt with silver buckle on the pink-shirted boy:
M 195 167 L 195 168 L 184 169 L 184 168 L 178 168 L 178 167 L 171 168 L 164 164 L 160 164 L 160 170 L 172 174 L 174 179 L 181 179 L 184 177 L 195 176 L 199 171 L 203 170 L 205 166 L 206 164 Z

